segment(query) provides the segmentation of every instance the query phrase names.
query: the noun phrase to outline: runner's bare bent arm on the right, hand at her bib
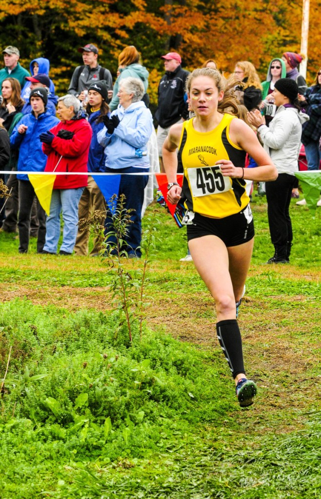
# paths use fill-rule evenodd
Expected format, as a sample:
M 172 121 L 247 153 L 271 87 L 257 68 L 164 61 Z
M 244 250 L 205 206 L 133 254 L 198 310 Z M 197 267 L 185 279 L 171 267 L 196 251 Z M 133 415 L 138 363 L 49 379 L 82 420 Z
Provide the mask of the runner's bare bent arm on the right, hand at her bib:
M 221 170 L 224 176 L 261 182 L 277 179 L 278 171 L 270 156 L 261 146 L 254 131 L 244 121 L 239 119 L 231 121 L 230 137 L 232 142 L 242 147 L 260 168 L 244 168 L 243 170 L 243 168 L 233 165 L 231 161 L 219 160 L 216 163 L 222 164 Z

